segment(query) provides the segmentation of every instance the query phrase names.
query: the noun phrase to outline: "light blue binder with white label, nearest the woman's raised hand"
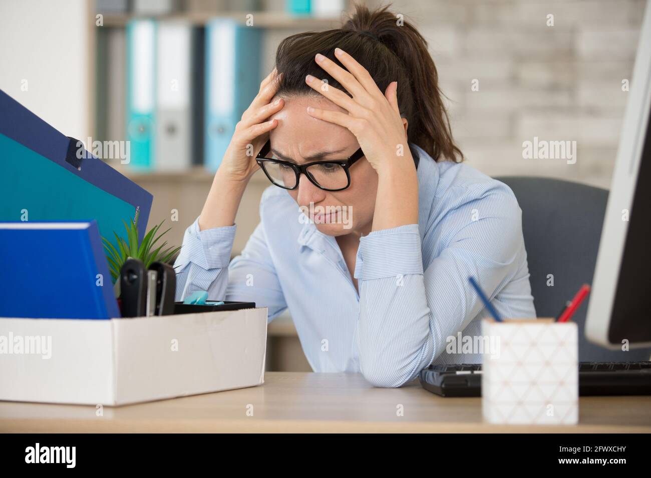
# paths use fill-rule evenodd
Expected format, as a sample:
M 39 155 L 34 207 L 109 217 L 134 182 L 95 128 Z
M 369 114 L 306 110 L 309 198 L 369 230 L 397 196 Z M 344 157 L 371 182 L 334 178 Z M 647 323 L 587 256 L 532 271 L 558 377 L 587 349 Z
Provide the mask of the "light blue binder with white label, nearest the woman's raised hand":
M 214 172 L 260 85 L 262 31 L 218 19 L 206 27 L 204 164 Z

